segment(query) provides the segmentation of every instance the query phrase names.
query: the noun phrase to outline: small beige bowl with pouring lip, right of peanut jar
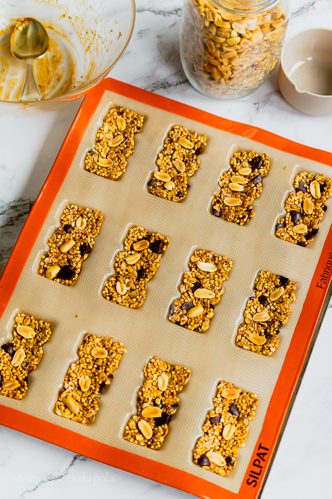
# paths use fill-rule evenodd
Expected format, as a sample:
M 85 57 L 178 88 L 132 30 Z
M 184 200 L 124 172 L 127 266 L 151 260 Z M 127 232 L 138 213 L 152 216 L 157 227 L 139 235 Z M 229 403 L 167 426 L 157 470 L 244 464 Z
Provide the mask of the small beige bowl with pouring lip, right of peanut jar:
M 311 28 L 291 36 L 280 59 L 281 93 L 299 111 L 332 113 L 332 30 Z

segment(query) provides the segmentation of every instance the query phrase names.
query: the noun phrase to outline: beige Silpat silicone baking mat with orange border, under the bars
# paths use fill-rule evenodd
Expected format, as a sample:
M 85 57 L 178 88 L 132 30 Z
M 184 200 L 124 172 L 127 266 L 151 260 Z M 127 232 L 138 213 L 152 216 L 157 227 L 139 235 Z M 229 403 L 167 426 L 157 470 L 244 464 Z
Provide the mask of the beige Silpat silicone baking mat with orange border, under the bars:
M 143 114 L 143 131 L 135 137 L 135 152 L 120 180 L 114 182 L 84 169 L 85 153 L 112 106 L 127 106 Z M 147 182 L 172 125 L 184 125 L 207 135 L 198 172 L 182 203 L 149 193 Z M 255 216 L 247 226 L 219 220 L 211 214 L 212 194 L 229 158 L 239 149 L 265 152 L 270 172 L 255 201 Z M 176 487 L 201 498 L 259 496 L 285 415 L 313 346 L 312 338 L 331 282 L 321 274 L 331 258 L 332 211 L 328 209 L 319 236 L 308 248 L 277 239 L 274 225 L 284 201 L 302 170 L 332 175 L 332 154 L 291 142 L 255 127 L 235 123 L 174 102 L 125 83 L 106 79 L 84 99 L 55 164 L 31 210 L 0 281 L 0 339 L 11 338 L 17 312 L 52 323 L 37 370 L 21 401 L 0 397 L 0 423 L 59 445 L 91 459 Z M 76 284 L 69 288 L 38 274 L 47 240 L 59 224 L 66 204 L 97 208 L 104 214 L 94 251 Z M 329 204 L 329 202 L 328 202 Z M 109 302 L 101 290 L 113 271 L 129 227 L 168 236 L 147 297 L 139 309 Z M 195 249 L 213 250 L 233 260 L 225 293 L 215 308 L 208 331 L 199 334 L 171 323 L 167 316 L 187 262 Z M 272 357 L 235 346 L 234 336 L 259 269 L 295 280 L 297 301 L 281 332 Z M 320 283 L 321 287 L 317 284 Z M 78 316 L 78 317 L 76 317 Z M 77 358 L 77 346 L 87 333 L 113 336 L 127 353 L 121 360 L 96 421 L 85 427 L 60 418 L 54 405 L 65 373 Z M 144 365 L 152 356 L 190 368 L 192 376 L 180 394 L 180 407 L 161 450 L 125 441 L 124 426 L 135 413 Z M 236 468 L 220 477 L 191 460 L 191 452 L 218 381 L 225 379 L 258 397 L 246 447 Z M 264 449 L 265 461 L 257 461 Z M 256 461 L 255 461 L 256 460 Z M 259 466 L 257 466 L 259 465 Z

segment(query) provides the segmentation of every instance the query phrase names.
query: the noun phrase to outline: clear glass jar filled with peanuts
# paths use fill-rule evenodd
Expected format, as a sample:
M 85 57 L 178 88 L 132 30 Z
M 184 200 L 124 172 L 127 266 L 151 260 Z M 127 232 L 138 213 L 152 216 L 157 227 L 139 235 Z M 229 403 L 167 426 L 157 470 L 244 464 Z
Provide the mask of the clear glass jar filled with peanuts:
M 190 83 L 215 99 L 255 91 L 276 67 L 289 0 L 184 0 L 180 54 Z

